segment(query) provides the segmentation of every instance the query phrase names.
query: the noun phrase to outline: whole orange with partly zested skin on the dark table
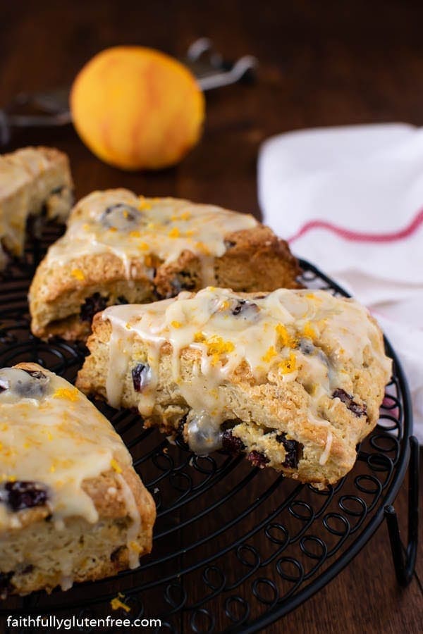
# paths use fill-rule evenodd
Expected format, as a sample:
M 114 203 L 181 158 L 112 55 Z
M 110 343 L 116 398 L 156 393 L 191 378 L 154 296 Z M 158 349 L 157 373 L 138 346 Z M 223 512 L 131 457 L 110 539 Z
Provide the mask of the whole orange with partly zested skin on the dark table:
M 73 124 L 106 163 L 125 170 L 178 163 L 202 132 L 204 95 L 188 68 L 142 46 L 94 56 L 71 89 Z

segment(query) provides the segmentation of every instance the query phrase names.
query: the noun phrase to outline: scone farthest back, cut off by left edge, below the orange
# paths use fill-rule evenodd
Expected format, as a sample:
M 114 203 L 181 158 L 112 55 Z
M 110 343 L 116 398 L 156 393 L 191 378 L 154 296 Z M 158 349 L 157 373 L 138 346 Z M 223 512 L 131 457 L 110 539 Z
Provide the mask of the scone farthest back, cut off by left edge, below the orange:
M 0 270 L 7 254 L 20 257 L 28 219 L 42 213 L 64 222 L 72 206 L 66 154 L 49 147 L 24 147 L 0 156 Z

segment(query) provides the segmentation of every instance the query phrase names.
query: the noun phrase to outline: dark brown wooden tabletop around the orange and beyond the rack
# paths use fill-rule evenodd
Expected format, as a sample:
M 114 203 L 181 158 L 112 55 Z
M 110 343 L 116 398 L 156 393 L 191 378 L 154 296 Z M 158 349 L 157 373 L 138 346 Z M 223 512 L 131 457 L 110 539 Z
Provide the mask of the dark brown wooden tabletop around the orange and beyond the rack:
M 0 106 L 23 90 L 68 84 L 82 63 L 114 44 L 178 56 L 207 35 L 228 58 L 253 54 L 260 62 L 257 83 L 207 95 L 204 137 L 176 168 L 123 173 L 95 159 L 71 127 L 19 135 L 12 147 L 52 144 L 67 151 L 78 197 L 123 186 L 259 216 L 256 161 L 266 137 L 316 125 L 423 124 L 422 25 L 423 5 L 400 0 L 2 2 Z M 396 502 L 402 517 L 406 495 L 403 485 Z M 400 590 L 381 526 L 329 586 L 266 631 L 417 633 L 423 629 L 419 578 L 422 547 L 415 578 Z

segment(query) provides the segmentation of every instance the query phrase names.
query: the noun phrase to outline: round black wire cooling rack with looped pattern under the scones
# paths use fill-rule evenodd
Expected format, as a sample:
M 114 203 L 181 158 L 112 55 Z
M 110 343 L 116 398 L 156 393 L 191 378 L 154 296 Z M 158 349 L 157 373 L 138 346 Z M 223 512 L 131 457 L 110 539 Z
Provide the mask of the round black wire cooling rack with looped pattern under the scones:
M 27 289 L 34 263 L 56 237 L 52 231 L 44 244 L 32 244 L 26 262 L 11 266 L 1 282 L 0 367 L 34 361 L 74 380 L 85 348 L 41 342 L 29 329 Z M 317 268 L 305 261 L 301 265 L 306 286 L 346 295 Z M 379 425 L 360 445 L 353 471 L 325 491 L 252 468 L 240 456 L 195 456 L 183 441 L 171 444 L 157 430 L 143 430 L 138 416 L 101 406 L 157 504 L 153 552 L 135 571 L 113 579 L 80 584 L 66 593 L 10 597 L 0 616 L 104 616 L 112 612 L 111 599 L 121 593 L 130 611 L 115 616 L 159 617 L 161 632 L 255 632 L 326 585 L 384 517 L 397 578 L 405 585 L 417 548 L 417 445 L 410 443 L 405 378 L 388 342 L 386 349 L 394 369 Z M 410 444 L 409 543 L 404 554 L 392 503 Z

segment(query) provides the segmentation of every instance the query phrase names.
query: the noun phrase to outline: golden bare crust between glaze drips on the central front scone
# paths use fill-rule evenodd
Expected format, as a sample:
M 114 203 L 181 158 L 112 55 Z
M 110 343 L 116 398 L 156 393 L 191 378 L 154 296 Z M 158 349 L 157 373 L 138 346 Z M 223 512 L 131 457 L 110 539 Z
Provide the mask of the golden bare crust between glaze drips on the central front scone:
M 345 305 L 347 309 L 348 304 Z M 373 324 L 374 320 L 370 319 L 369 322 Z M 332 336 L 329 329 L 314 343 L 326 355 L 326 359 L 334 360 Z M 77 380 L 82 392 L 102 399 L 106 399 L 110 337 L 111 322 L 99 313 L 93 321 L 93 334 L 87 340 L 91 354 L 85 359 Z M 298 378 L 288 382 L 274 373 L 269 373 L 264 382 L 256 380 L 247 364 L 241 363 L 226 383 L 217 387 L 219 398 L 225 403 L 223 420 L 232 421 L 231 433 L 242 442 L 245 453 L 257 452 L 265 456 L 264 464 L 267 466 L 314 485 L 336 483 L 352 468 L 357 442 L 378 421 L 387 379 L 383 350 L 381 331 L 372 328 L 372 342 L 363 349 L 362 363 L 357 364 L 347 358 L 343 361 L 343 380 L 348 382 L 345 386 L 348 386 L 348 393 L 353 394 L 356 411 L 349 409 L 348 402 L 343 402 L 330 392 L 319 397 L 320 418 L 317 420 L 317 414 L 310 409 L 309 387 L 307 380 L 302 378 L 300 360 Z M 135 392 L 131 371 L 137 363 L 147 363 L 147 345 L 136 332 L 130 343 L 130 351 L 128 371 L 123 378 L 121 406 L 137 408 L 142 397 Z M 190 384 L 192 368 L 199 371 L 201 354 L 200 350 L 192 347 L 180 349 L 178 382 L 172 373 L 172 346 L 169 342 L 161 345 L 159 384 L 155 388 L 152 414 L 144 418 L 146 427 L 156 426 L 166 434 L 174 434 L 180 428 L 181 421 L 186 420 L 187 415 L 190 416 L 190 406 L 179 385 L 184 382 Z M 298 455 L 301 458 L 296 466 L 284 464 L 288 450 L 283 445 L 283 435 L 298 443 Z

